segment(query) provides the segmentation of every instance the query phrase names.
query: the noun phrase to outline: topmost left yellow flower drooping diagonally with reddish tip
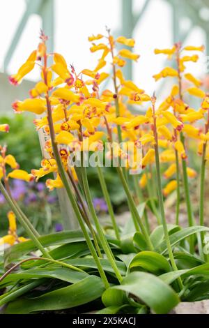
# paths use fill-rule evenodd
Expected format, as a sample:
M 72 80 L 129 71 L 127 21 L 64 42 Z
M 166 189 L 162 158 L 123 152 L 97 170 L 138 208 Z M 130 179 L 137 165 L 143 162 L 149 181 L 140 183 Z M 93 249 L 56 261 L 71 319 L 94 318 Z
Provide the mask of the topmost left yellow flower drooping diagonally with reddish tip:
M 26 62 L 19 68 L 17 74 L 11 75 L 9 77 L 9 81 L 11 84 L 17 85 L 22 82 L 22 79 L 25 75 L 31 72 L 35 66 L 36 61 L 36 50 L 34 50 L 29 58 L 26 60 Z

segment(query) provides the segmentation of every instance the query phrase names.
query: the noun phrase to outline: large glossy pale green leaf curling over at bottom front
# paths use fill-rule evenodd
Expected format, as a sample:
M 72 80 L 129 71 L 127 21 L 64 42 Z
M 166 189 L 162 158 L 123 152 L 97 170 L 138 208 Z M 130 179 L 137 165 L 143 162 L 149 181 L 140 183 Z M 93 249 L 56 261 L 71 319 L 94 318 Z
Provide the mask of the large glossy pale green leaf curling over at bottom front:
M 106 290 L 102 295 L 102 299 L 105 298 L 106 293 L 109 293 L 109 290 L 128 292 L 141 299 L 157 314 L 168 313 L 180 301 L 176 292 L 169 285 L 147 272 L 135 271 L 128 274 L 121 285 Z

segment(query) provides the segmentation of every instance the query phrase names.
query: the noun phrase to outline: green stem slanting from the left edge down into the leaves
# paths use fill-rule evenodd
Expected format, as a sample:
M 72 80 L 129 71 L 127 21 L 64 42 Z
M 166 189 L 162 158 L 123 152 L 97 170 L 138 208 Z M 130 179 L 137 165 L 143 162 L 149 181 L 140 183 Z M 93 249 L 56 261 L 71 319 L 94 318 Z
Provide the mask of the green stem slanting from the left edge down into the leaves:
M 3 184 L 1 183 L 1 181 L 0 181 L 0 190 L 1 190 L 2 195 L 5 197 L 8 204 L 10 205 L 10 208 L 13 210 L 13 212 L 17 216 L 17 219 L 20 221 L 20 224 L 22 225 L 24 230 L 26 230 L 26 233 L 29 235 L 29 237 L 34 242 L 34 244 L 37 246 L 37 248 L 41 251 L 42 255 L 44 255 L 45 258 L 52 259 L 52 256 L 49 255 L 49 253 L 45 250 L 45 248 L 42 246 L 42 244 L 40 243 L 40 241 L 38 240 L 36 235 L 33 233 L 31 228 L 29 227 L 29 225 L 26 223 L 24 218 L 21 216 L 20 211 L 18 211 L 17 207 L 13 203 L 13 200 L 11 200 L 10 196 L 6 192 L 5 188 L 3 187 Z

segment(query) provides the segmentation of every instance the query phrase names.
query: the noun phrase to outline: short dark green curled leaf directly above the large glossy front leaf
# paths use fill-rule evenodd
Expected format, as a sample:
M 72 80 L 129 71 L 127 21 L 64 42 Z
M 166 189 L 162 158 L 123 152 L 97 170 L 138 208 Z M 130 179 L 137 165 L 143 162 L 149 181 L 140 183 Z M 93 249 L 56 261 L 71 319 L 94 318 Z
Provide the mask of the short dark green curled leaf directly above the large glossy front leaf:
M 171 270 L 170 264 L 164 256 L 152 251 L 138 253 L 130 262 L 130 269 L 141 267 L 153 274 L 162 274 Z

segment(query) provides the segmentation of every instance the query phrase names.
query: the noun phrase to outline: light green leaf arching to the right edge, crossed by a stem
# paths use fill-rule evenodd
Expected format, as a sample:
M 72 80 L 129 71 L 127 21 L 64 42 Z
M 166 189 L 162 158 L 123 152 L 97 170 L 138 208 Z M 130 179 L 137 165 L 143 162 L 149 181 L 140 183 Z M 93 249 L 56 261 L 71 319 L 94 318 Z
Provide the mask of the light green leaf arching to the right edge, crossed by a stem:
M 180 231 L 177 231 L 174 234 L 171 234 L 171 236 L 170 236 L 171 246 L 174 246 L 174 245 L 178 244 L 180 241 L 182 241 L 183 239 L 191 236 L 192 234 L 196 234 L 197 232 L 201 232 L 201 231 L 209 231 L 209 228 L 203 227 L 200 225 L 195 225 L 193 227 L 188 227 L 188 228 L 184 228 Z M 166 241 L 165 240 L 162 241 L 162 243 L 160 243 L 160 245 L 157 246 L 155 251 L 157 251 L 157 253 L 162 253 L 162 254 L 166 253 L 167 252 Z

